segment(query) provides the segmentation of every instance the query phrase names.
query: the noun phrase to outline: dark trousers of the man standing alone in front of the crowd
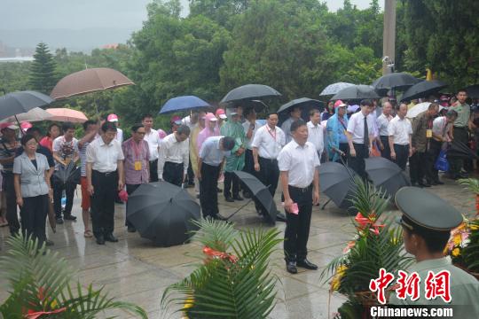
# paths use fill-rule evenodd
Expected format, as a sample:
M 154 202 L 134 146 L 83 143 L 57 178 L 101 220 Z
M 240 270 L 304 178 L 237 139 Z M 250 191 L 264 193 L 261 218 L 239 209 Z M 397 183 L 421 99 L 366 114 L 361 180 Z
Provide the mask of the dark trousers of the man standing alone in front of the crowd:
M 308 238 L 310 237 L 310 222 L 312 210 L 312 185 L 306 189 L 288 187 L 289 196 L 298 204 L 299 213 L 287 215 L 285 230 L 285 259 L 286 261 L 302 261 L 308 254 Z

